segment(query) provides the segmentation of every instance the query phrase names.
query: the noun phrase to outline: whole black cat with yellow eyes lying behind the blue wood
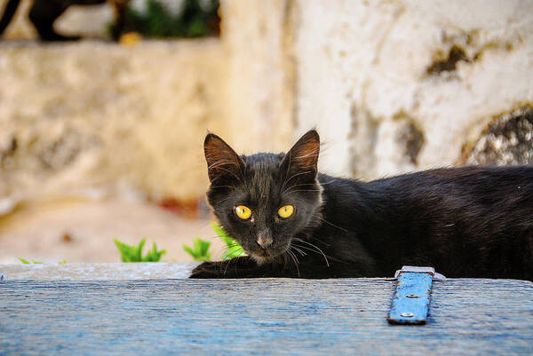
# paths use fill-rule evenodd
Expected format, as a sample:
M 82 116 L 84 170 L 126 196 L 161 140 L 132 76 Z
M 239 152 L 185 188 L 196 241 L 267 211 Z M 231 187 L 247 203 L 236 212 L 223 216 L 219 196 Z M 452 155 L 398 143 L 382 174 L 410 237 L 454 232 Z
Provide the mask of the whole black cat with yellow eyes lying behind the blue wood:
M 318 173 L 308 131 L 287 154 L 239 156 L 209 134 L 208 200 L 248 257 L 192 278 L 447 277 L 533 280 L 533 167 L 426 170 L 369 183 Z

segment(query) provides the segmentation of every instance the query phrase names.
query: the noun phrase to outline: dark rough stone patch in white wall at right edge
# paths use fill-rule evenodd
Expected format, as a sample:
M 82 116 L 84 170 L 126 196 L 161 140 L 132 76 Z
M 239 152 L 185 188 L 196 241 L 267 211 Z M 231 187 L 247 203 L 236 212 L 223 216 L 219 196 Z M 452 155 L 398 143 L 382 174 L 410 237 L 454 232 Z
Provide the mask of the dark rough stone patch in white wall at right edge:
M 497 117 L 467 154 L 467 163 L 533 164 L 533 108 Z

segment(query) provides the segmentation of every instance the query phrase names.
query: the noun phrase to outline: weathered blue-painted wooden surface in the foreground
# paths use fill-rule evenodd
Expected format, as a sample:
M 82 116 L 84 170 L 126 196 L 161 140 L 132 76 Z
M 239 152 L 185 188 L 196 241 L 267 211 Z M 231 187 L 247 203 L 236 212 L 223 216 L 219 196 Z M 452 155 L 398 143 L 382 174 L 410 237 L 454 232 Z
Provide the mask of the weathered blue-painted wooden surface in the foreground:
M 533 354 L 528 281 L 434 281 L 426 326 L 394 281 L 0 281 L 0 354 Z

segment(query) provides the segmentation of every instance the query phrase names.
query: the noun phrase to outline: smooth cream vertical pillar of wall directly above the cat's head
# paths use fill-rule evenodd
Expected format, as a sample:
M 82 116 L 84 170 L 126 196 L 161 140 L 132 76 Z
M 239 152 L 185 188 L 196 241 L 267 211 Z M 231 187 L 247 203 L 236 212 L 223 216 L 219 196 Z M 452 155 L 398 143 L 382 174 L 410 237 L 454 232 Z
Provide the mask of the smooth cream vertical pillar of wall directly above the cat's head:
M 287 150 L 293 130 L 290 0 L 222 1 L 230 142 L 247 154 Z

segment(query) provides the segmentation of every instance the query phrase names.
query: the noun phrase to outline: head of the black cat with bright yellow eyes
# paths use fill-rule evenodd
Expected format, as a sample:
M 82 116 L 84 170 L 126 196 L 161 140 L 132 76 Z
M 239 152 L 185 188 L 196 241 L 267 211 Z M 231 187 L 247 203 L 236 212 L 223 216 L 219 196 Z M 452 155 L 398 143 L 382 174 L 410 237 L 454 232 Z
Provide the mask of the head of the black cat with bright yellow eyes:
M 314 130 L 287 154 L 239 156 L 222 138 L 205 138 L 208 201 L 227 233 L 259 264 L 282 256 L 319 219 L 319 149 Z

